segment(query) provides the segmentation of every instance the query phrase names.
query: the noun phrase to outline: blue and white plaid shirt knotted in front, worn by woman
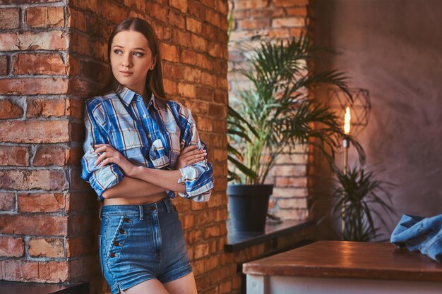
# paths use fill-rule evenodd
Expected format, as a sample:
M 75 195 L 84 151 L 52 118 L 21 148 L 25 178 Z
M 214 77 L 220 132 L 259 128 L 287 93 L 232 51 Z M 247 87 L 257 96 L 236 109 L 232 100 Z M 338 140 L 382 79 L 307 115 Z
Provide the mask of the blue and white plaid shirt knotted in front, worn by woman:
M 119 98 L 121 97 L 121 99 Z M 181 150 L 189 145 L 205 149 L 190 109 L 179 102 L 162 102 L 150 97 L 146 107 L 141 97 L 127 87 L 116 93 L 87 99 L 85 102 L 86 137 L 81 159 L 81 178 L 104 200 L 104 190 L 117 185 L 124 173 L 117 164 L 95 166 L 97 144 L 109 144 L 132 164 L 150 169 L 174 169 Z M 197 202 L 208 201 L 213 190 L 213 167 L 205 161 L 179 169 L 178 183 L 186 185 L 181 197 Z M 166 190 L 169 197 L 175 192 Z

